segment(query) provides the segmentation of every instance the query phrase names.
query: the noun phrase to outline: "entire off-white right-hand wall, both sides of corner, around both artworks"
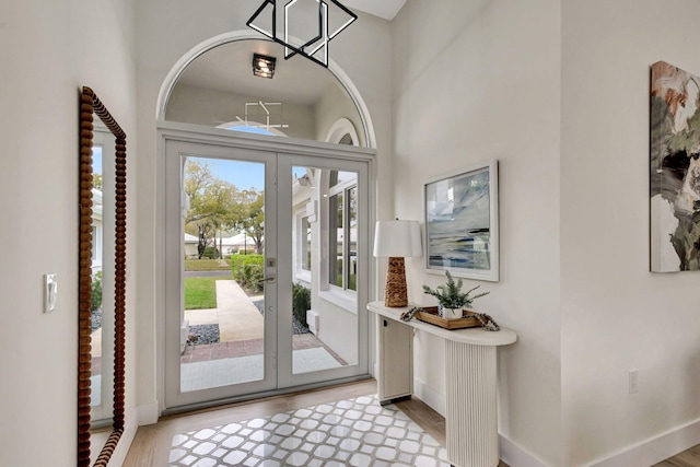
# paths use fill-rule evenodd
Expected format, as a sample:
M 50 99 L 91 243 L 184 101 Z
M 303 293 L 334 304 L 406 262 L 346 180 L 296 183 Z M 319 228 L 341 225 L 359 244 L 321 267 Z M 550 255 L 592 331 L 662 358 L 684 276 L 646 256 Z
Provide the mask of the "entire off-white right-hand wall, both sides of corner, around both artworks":
M 502 435 L 550 466 L 651 465 L 699 442 L 697 273 L 648 272 L 648 197 L 649 66 L 700 73 L 700 5 L 433 7 L 409 0 L 394 23 L 395 214 L 421 218 L 425 178 L 499 159 L 502 277 L 479 307 L 518 332 Z M 440 281 L 418 260 L 408 277 Z M 441 342 L 416 348 L 440 408 Z

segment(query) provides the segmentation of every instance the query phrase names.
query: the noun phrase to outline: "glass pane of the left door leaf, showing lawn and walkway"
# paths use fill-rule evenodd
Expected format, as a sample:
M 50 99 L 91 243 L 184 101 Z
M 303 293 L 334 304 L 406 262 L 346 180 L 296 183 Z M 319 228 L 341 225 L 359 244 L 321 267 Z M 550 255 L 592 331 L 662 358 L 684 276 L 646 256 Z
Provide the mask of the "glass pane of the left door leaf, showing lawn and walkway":
M 265 357 L 265 164 L 184 164 L 183 392 L 261 381 Z

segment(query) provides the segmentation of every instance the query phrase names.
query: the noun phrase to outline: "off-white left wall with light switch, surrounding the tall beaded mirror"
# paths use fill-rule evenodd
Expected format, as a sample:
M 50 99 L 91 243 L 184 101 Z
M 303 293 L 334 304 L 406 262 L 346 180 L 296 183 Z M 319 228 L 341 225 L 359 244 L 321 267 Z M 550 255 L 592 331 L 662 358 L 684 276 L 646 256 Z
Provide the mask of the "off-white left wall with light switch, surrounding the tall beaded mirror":
M 3 465 L 75 465 L 79 98 L 93 87 L 136 142 L 131 19 L 128 0 L 0 5 L 0 244 L 11 245 L 0 261 Z M 51 314 L 42 313 L 47 272 L 59 282 Z M 133 376 L 127 366 L 127 420 Z

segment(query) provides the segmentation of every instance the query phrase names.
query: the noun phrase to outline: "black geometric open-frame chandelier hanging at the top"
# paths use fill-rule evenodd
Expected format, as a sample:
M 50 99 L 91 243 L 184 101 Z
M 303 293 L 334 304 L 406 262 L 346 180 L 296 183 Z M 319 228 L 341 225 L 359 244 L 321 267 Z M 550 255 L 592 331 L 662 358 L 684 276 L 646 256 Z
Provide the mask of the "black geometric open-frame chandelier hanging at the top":
M 350 11 L 347 7 L 340 3 L 337 0 L 315 0 L 318 3 L 318 30 L 311 31 L 305 35 L 304 38 L 296 39 L 293 43 L 293 38 L 290 35 L 290 27 L 292 26 L 292 20 L 290 19 L 290 14 L 293 13 L 296 20 L 299 20 L 300 14 L 308 14 L 306 12 L 300 11 L 301 8 L 300 0 L 290 0 L 284 4 L 284 22 L 282 34 L 278 34 L 277 31 L 277 0 L 265 0 L 262 4 L 257 9 L 257 11 L 250 16 L 250 19 L 245 23 L 248 27 L 264 34 L 265 36 L 271 38 L 276 43 L 282 44 L 284 46 L 284 59 L 289 59 L 294 55 L 299 54 L 308 58 L 312 61 L 320 65 L 322 67 L 328 68 L 328 43 L 330 39 L 340 34 L 346 27 L 348 27 L 353 21 L 358 19 L 358 15 Z M 308 2 L 308 0 L 306 0 Z M 340 22 L 338 22 L 338 26 L 334 26 L 335 30 L 329 32 L 329 12 L 328 5 L 336 7 L 334 10 L 341 14 Z M 296 7 L 295 7 L 296 5 Z M 269 12 L 270 16 L 264 15 L 262 13 Z M 316 16 L 316 12 L 312 13 Z M 345 16 L 345 17 L 342 17 Z M 335 20 L 334 13 L 334 20 Z M 267 24 L 267 28 L 262 26 L 262 23 L 266 23 L 266 20 L 269 24 Z M 314 21 L 315 22 L 315 21 Z M 296 44 L 298 43 L 298 44 Z

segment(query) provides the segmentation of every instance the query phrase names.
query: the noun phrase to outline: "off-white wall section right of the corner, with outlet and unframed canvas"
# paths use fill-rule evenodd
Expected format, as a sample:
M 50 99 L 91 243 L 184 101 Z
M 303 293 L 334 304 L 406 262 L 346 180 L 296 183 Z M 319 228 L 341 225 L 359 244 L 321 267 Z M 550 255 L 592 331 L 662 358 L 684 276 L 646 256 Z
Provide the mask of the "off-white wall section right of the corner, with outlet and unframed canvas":
M 700 276 L 649 272 L 650 66 L 700 75 L 698 17 L 693 0 L 562 1 L 565 465 L 700 419 Z

